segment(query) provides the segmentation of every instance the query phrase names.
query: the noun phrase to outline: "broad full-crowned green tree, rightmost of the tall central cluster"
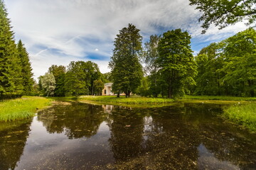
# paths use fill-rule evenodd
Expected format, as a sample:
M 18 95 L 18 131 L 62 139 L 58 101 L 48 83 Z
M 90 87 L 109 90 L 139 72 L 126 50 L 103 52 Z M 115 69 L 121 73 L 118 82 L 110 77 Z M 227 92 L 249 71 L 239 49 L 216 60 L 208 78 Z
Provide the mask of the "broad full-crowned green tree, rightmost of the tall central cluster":
M 188 85 L 196 84 L 196 62 L 190 47 L 191 36 L 181 29 L 169 30 L 163 34 L 158 45 L 159 72 L 168 84 L 168 97 L 184 95 Z

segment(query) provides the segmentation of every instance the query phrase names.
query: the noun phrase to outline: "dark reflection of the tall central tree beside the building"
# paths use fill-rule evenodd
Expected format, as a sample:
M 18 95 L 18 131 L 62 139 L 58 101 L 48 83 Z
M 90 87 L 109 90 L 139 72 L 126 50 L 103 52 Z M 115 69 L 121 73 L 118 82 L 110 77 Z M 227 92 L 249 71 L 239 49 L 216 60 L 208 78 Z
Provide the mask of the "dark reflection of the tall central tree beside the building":
M 132 109 L 115 107 L 110 116 L 110 147 L 117 161 L 124 161 L 144 152 L 143 115 L 138 115 Z

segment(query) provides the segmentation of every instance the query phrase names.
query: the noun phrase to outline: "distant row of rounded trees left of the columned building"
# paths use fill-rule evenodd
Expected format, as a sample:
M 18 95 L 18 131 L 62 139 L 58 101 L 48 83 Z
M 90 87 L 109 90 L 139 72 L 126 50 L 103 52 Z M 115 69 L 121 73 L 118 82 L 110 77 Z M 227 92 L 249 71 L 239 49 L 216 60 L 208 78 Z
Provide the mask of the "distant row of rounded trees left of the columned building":
M 52 65 L 39 77 L 39 91 L 44 96 L 100 95 L 107 82 L 94 62 L 70 62 L 68 67 Z

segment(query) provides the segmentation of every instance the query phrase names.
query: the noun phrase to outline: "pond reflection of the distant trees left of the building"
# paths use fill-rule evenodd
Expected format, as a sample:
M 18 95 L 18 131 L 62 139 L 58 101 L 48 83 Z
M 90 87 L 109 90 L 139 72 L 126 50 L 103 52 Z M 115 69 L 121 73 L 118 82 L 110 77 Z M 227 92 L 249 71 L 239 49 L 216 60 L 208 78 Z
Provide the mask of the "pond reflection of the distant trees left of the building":
M 76 139 L 95 135 L 105 116 L 102 106 L 73 102 L 38 113 L 38 120 L 48 132 L 65 132 L 69 139 Z

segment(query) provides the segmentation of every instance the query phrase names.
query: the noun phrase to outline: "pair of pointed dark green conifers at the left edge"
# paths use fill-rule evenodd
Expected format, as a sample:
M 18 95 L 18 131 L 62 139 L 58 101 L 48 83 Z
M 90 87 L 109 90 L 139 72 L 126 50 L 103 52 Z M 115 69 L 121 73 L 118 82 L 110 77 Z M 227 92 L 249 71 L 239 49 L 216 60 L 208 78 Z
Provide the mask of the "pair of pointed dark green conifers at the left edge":
M 31 94 L 31 71 L 28 52 L 21 40 L 16 44 L 6 8 L 0 0 L 0 100 Z

